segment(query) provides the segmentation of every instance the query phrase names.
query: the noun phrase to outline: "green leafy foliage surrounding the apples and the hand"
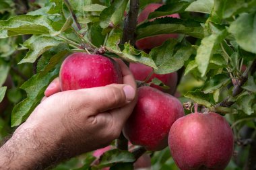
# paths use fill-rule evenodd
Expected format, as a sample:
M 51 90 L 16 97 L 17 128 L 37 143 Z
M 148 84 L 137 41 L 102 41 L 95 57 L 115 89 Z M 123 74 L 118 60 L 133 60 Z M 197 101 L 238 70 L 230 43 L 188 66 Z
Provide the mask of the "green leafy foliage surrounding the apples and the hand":
M 141 0 L 139 10 L 156 2 Z M 158 74 L 184 71 L 179 77 L 181 101 L 194 101 L 202 110 L 225 114 L 236 141 L 252 137 L 253 133 L 246 137 L 241 134 L 246 127 L 255 133 L 256 0 L 166 0 L 146 22 L 137 25 L 136 40 L 174 33 L 179 38 L 170 38 L 149 54 L 129 42 L 120 43 L 128 0 L 36 0 L 28 7 L 22 5 L 0 1 L 0 101 L 9 99 L 8 107 L 0 110 L 0 140 L 40 103 L 67 54 L 93 53 L 102 46 L 106 56 L 143 63 Z M 150 20 L 173 13 L 181 18 Z M 11 83 L 6 84 L 8 75 Z M 153 81 L 166 88 L 160 80 Z M 239 158 L 249 147 L 236 145 L 235 149 Z M 152 169 L 177 169 L 168 152 L 152 153 Z M 133 155 L 119 151 L 106 153 L 98 167 L 90 167 L 94 159 L 86 155 L 56 169 L 99 169 L 106 165 L 131 169 L 135 161 Z M 227 169 L 243 169 L 246 161 L 234 157 Z

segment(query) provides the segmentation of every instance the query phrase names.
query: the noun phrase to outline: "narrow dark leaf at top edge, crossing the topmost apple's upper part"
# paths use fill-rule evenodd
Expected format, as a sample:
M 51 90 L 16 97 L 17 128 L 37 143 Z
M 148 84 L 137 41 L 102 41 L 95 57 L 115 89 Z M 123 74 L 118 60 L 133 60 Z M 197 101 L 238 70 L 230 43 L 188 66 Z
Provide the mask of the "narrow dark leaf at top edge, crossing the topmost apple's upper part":
M 148 19 L 165 16 L 165 15 L 171 15 L 173 13 L 182 13 L 185 11 L 185 9 L 189 6 L 188 2 L 185 1 L 179 1 L 179 2 L 170 2 L 166 5 L 162 5 L 158 9 L 156 9 L 154 12 L 150 13 L 148 16 Z

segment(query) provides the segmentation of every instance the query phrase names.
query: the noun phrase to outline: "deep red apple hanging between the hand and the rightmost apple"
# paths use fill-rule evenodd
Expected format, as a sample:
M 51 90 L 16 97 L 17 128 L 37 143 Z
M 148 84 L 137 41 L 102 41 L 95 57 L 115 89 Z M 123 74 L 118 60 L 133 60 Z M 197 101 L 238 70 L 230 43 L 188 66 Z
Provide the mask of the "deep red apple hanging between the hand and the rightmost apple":
M 168 146 L 170 126 L 184 116 L 183 105 L 177 98 L 153 87 L 139 87 L 137 94 L 137 104 L 123 133 L 134 145 L 160 151 Z

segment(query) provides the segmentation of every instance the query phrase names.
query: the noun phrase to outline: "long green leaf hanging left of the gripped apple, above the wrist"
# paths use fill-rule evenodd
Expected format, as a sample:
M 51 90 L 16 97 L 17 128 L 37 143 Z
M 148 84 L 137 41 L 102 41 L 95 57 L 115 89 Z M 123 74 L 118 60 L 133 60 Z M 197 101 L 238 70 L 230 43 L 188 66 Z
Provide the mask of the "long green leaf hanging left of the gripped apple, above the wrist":
M 40 76 L 34 75 L 26 81 L 20 88 L 27 93 L 27 98 L 15 105 L 11 113 L 11 127 L 20 125 L 33 112 L 36 105 L 44 96 L 44 91 L 49 83 L 57 77 L 59 69 L 55 69 L 50 73 Z

